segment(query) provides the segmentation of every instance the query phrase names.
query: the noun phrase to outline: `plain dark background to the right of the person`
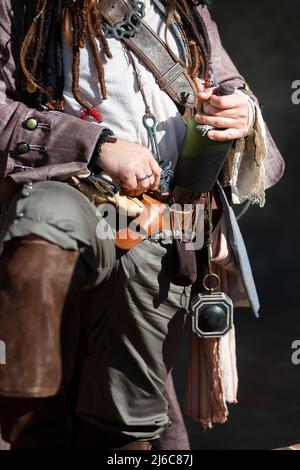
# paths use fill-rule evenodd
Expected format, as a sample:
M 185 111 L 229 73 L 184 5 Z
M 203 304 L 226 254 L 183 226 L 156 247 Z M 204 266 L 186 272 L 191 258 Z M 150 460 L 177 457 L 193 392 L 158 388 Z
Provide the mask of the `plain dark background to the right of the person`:
M 203 431 L 187 421 L 193 449 L 271 449 L 300 442 L 300 365 L 291 344 L 300 340 L 300 80 L 298 0 L 215 0 L 211 12 L 224 47 L 264 105 L 264 117 L 287 168 L 267 192 L 264 209 L 241 221 L 261 300 L 260 320 L 236 312 L 239 404 L 228 423 Z M 176 384 L 183 396 L 186 348 Z

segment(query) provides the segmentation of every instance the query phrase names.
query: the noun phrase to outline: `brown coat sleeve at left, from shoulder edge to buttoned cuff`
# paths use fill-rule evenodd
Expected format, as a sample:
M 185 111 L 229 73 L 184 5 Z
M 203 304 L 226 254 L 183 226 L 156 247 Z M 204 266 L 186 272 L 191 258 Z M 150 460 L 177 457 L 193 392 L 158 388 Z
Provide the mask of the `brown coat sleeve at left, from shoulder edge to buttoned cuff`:
M 21 2 L 22 3 L 22 2 Z M 14 99 L 22 18 L 12 2 L 0 4 L 0 180 L 42 181 L 86 168 L 103 128 L 57 111 L 40 112 Z M 39 126 L 28 130 L 28 118 Z M 20 143 L 27 144 L 22 153 Z M 24 151 L 27 146 L 21 148 Z M 26 171 L 16 171 L 28 167 Z

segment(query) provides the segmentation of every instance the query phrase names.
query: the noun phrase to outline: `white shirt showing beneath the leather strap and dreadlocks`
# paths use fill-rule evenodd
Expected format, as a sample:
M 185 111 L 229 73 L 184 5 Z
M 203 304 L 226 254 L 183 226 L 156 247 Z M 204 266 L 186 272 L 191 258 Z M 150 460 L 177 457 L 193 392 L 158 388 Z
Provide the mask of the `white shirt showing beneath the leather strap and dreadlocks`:
M 146 0 L 145 4 L 144 21 L 164 40 L 164 19 L 160 11 L 154 7 L 150 0 Z M 103 117 L 102 125 L 112 129 L 117 137 L 150 148 L 147 131 L 142 122 L 145 104 L 128 57 L 128 51 L 121 41 L 108 39 L 108 43 L 113 58 L 104 58 L 101 52 L 104 60 L 107 99 L 101 99 L 98 75 L 89 46 L 81 49 L 81 96 L 100 111 Z M 175 39 L 170 32 L 168 32 L 168 43 L 171 49 L 178 54 Z M 99 48 L 101 48 L 100 44 Z M 132 57 L 140 75 L 147 102 L 157 118 L 157 140 L 161 156 L 165 164 L 172 161 L 174 168 L 185 133 L 185 124 L 176 105 L 165 92 L 161 91 L 152 73 L 136 56 L 132 54 Z M 64 68 L 65 112 L 80 116 L 81 107 L 72 94 L 72 48 L 67 48 L 66 45 L 64 46 Z

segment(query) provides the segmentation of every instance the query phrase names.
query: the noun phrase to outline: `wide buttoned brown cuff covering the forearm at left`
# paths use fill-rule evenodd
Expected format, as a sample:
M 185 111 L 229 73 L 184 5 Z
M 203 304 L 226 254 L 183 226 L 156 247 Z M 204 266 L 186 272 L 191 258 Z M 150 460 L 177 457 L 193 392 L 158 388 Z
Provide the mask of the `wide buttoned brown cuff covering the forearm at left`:
M 26 125 L 29 118 L 37 124 L 33 130 Z M 89 163 L 102 129 L 61 112 L 40 112 L 4 98 L 0 104 L 0 175 L 22 184 L 80 171 Z M 22 166 L 26 171 L 18 171 Z

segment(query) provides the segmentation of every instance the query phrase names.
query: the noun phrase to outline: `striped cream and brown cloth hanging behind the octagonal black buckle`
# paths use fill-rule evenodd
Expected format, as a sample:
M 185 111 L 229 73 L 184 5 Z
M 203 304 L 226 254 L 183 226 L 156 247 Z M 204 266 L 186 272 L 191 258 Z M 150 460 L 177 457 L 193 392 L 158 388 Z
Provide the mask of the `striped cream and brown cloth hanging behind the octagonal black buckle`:
M 223 292 L 228 291 L 226 269 L 234 267 L 234 254 L 227 243 L 224 216 L 214 230 L 213 268 L 221 278 Z M 226 269 L 225 269 L 226 268 Z M 225 423 L 227 403 L 237 403 L 235 330 L 222 338 L 199 338 L 191 331 L 185 414 L 205 428 Z

